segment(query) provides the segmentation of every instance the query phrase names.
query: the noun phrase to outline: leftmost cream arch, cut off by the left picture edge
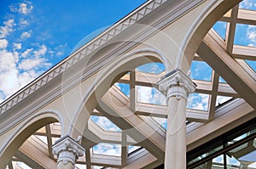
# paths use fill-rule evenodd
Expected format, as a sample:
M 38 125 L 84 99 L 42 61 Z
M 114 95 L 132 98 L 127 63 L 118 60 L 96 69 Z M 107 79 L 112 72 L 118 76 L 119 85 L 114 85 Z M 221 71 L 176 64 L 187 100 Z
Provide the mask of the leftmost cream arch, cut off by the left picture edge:
M 23 121 L 20 127 L 9 136 L 9 139 L 5 142 L 6 144 L 1 150 L 0 168 L 5 168 L 8 165 L 11 157 L 15 155 L 15 151 L 19 149 L 34 132 L 45 125 L 58 121 L 60 121 L 59 116 L 55 112 L 50 111 L 38 113 L 26 119 L 26 121 Z

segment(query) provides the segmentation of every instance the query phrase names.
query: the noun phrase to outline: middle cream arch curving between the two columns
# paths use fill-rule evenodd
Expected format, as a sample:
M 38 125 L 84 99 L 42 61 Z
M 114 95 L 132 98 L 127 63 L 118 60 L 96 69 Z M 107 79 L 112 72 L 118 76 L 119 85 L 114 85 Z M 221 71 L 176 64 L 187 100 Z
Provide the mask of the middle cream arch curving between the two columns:
M 73 119 L 73 124 L 77 125 L 69 129 L 73 138 L 84 134 L 85 126 L 87 125 L 84 121 L 88 121 L 90 112 L 96 108 L 102 96 L 114 82 L 117 82 L 120 77 L 124 76 L 128 71 L 137 68 L 139 65 L 155 62 L 161 62 L 165 67 L 173 66 L 160 51 L 156 51 L 152 48 L 143 48 L 120 56 L 120 58 L 116 59 L 111 65 L 101 70 L 96 76 L 94 84 L 88 89 L 87 93 L 84 93 L 83 102 L 79 105 L 79 110 L 75 115 L 76 119 Z M 79 124 L 83 124 L 83 127 Z

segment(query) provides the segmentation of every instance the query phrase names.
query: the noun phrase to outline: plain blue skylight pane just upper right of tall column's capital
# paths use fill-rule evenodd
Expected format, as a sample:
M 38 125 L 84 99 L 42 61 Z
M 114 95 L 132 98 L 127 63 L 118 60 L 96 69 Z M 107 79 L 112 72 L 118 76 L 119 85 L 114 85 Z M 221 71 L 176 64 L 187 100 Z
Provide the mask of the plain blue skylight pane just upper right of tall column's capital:
M 206 62 L 193 60 L 191 63 L 191 78 L 210 82 L 212 79 L 212 68 Z

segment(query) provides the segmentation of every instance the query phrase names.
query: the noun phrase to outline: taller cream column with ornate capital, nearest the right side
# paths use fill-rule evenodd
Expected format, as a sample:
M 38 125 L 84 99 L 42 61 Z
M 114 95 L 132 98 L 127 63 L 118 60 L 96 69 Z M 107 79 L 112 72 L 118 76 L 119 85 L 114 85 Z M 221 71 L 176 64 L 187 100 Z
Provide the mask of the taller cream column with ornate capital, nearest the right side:
M 186 105 L 189 93 L 195 92 L 195 83 L 181 70 L 173 70 L 162 77 L 159 90 L 166 95 L 166 169 L 186 168 Z

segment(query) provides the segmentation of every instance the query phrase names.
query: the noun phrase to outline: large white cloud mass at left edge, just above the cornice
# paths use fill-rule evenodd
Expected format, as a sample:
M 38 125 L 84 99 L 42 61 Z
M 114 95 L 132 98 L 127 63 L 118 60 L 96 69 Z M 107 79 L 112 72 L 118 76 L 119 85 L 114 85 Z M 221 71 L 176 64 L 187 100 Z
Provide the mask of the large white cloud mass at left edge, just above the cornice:
M 13 44 L 15 48 L 21 48 L 20 43 Z M 6 46 L 6 45 L 5 45 Z M 38 50 L 26 49 L 23 53 L 8 51 L 0 48 L 0 101 L 7 99 L 17 92 L 20 87 L 41 75 L 51 65 L 44 58 L 47 48 L 39 46 Z

